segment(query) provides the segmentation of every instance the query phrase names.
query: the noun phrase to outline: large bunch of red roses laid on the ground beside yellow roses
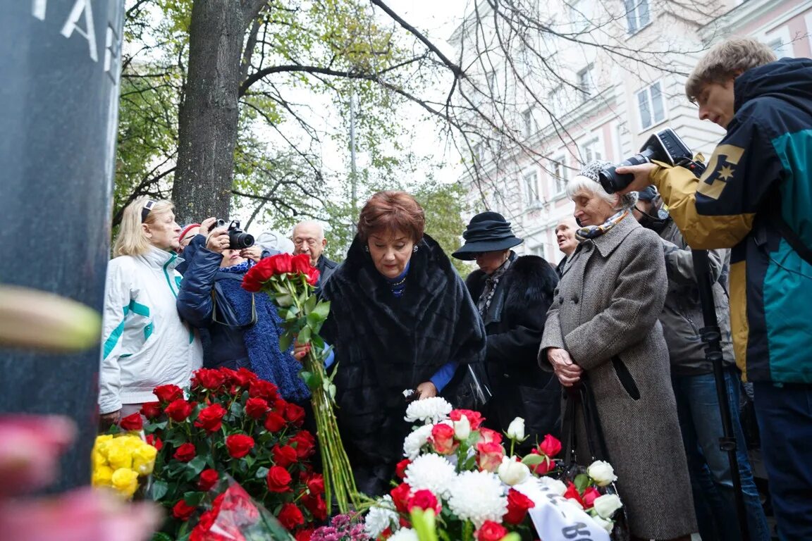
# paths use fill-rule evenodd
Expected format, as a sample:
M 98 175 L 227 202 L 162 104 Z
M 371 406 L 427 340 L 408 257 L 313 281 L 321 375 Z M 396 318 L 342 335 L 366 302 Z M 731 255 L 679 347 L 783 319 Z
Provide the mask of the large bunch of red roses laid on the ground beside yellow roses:
M 209 520 L 227 475 L 288 530 L 326 520 L 324 481 L 309 462 L 315 440 L 301 429 L 304 409 L 274 384 L 244 368 L 203 368 L 188 398 L 176 385 L 153 393 L 158 401 L 141 408 L 146 439 L 158 449 L 151 496 L 170 514 L 169 537 L 158 539 L 186 539 Z

